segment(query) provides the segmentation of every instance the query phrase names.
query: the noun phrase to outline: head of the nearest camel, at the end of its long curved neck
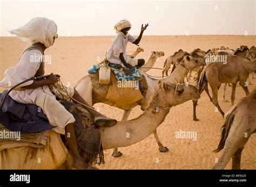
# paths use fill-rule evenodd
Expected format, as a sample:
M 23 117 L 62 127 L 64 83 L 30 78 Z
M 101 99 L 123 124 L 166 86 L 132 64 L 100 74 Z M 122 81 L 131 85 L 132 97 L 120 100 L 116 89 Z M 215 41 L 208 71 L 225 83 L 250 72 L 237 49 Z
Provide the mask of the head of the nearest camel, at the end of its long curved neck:
M 200 94 L 193 85 L 173 84 L 170 82 L 158 82 L 157 91 L 152 96 L 152 102 L 162 107 L 176 106 L 186 101 L 198 100 Z

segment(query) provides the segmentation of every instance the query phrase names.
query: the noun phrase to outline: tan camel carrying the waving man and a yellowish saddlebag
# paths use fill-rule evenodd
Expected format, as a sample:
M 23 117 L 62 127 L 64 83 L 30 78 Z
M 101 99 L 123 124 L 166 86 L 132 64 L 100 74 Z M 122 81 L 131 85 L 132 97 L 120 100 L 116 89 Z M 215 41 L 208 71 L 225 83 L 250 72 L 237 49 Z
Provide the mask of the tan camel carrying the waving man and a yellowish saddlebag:
M 192 70 L 193 68 L 197 68 L 199 66 L 205 66 L 205 65 L 206 64 L 204 59 L 197 59 L 192 56 L 185 56 L 182 62 L 173 71 L 173 73 L 161 80 L 166 82 L 171 82 L 171 83 L 179 83 L 187 75 L 188 71 Z M 141 106 L 140 109 L 144 111 L 149 106 L 150 97 L 153 95 L 153 93 L 157 89 L 159 80 L 147 76 L 142 70 L 139 70 L 139 71 L 146 77 L 146 81 L 148 85 L 146 96 L 142 100 L 139 100 L 138 102 L 132 103 L 129 105 L 118 105 L 117 103 L 114 103 L 111 100 L 105 99 L 107 90 L 109 89 L 109 85 L 108 84 L 103 85 L 99 83 L 98 73 L 89 74 L 81 78 L 78 81 L 78 83 L 75 85 L 75 89 L 78 91 L 80 96 L 82 96 L 86 100 L 86 102 L 89 103 L 91 106 L 94 105 L 95 103 L 105 103 L 110 106 L 115 106 L 115 107 L 118 107 L 119 109 L 124 110 L 122 120 L 126 120 L 129 117 L 133 107 L 140 105 Z M 157 135 L 157 130 L 155 130 L 153 134 L 158 143 L 159 151 L 167 152 L 169 149 L 167 147 L 164 147 L 160 142 Z M 116 148 L 114 149 L 114 152 L 112 155 L 114 157 L 119 157 L 122 155 L 122 153 L 118 152 Z

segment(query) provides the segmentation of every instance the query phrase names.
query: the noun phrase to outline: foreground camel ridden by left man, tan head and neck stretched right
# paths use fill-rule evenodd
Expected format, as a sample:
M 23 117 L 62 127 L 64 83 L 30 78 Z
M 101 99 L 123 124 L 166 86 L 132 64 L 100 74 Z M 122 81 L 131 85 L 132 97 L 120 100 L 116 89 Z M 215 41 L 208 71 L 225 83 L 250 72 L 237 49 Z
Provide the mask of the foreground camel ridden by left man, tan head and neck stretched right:
M 199 98 L 200 95 L 197 88 L 192 85 L 181 85 L 159 81 L 149 107 L 147 107 L 144 113 L 138 118 L 127 121 L 118 121 L 118 123 L 112 127 L 100 127 L 100 139 L 103 149 L 106 150 L 116 147 L 130 146 L 142 141 L 163 123 L 172 106 L 182 104 L 190 99 Z M 75 131 L 76 128 L 80 127 L 75 126 Z M 127 136 L 127 133 L 129 133 L 129 136 Z M 35 148 L 30 147 L 28 153 L 23 154 L 29 155 L 32 149 Z M 43 148 L 41 149 L 44 151 Z M 17 166 L 24 166 L 25 161 L 22 159 L 19 160 L 17 157 L 9 157 L 8 161 L 10 163 L 15 163 Z M 11 161 L 12 158 L 15 159 L 15 162 Z M 43 167 L 42 164 L 39 166 Z M 65 167 L 66 166 L 63 165 L 60 168 L 66 169 Z

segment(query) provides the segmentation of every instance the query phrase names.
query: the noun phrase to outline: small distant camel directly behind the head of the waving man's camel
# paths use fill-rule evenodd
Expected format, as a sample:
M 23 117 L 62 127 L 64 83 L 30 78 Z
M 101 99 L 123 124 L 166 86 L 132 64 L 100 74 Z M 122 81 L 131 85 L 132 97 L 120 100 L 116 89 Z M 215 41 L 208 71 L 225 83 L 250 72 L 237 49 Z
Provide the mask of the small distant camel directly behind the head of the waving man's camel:
M 162 71 L 163 77 L 164 77 L 164 74 L 168 76 L 168 70 L 171 68 L 171 65 L 173 66 L 171 71 L 172 73 L 173 70 L 175 69 L 176 63 L 177 62 L 179 63 L 181 60 L 183 60 L 185 55 L 190 55 L 190 54 L 188 54 L 187 52 L 184 52 L 182 49 L 179 49 L 178 52 L 175 52 L 173 55 L 167 57 L 167 59 L 164 61 L 164 70 Z

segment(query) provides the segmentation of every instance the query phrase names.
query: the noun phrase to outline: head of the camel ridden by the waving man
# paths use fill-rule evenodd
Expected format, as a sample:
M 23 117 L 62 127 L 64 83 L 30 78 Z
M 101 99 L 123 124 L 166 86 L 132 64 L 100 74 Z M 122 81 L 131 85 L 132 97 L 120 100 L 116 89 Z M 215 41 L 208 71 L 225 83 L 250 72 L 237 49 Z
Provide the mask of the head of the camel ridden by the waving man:
M 186 55 L 180 62 L 180 65 L 187 68 L 188 70 L 195 70 L 196 68 L 198 69 L 201 66 L 206 66 L 206 63 L 205 59 Z

